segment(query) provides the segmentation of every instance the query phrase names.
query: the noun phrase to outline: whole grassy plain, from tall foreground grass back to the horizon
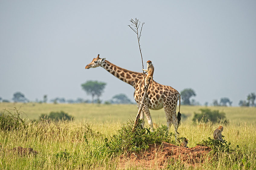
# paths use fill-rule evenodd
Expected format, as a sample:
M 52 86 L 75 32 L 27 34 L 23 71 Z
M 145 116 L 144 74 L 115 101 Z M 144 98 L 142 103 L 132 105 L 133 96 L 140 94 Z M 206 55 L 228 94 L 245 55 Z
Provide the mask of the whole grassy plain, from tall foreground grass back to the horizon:
M 112 159 L 107 153 L 97 155 L 95 151 L 99 150 L 105 137 L 110 138 L 115 130 L 137 114 L 136 105 L 0 103 L 1 111 L 10 111 L 14 107 L 24 112 L 22 116 L 28 120 L 28 125 L 18 130 L 0 130 L 0 169 L 118 169 L 118 159 Z M 186 118 L 183 117 L 178 131 L 189 140 L 188 147 L 195 147 L 203 139 L 212 138 L 213 130 L 219 126 L 211 123 L 193 124 L 193 113 L 199 112 L 200 108 L 204 107 L 181 106 L 181 113 Z M 174 164 L 169 169 L 256 169 L 256 108 L 208 108 L 226 113 L 229 124 L 223 125 L 222 134 L 233 148 L 239 145 L 239 152 L 219 155 L 221 161 L 208 162 L 198 167 Z M 74 121 L 46 124 L 29 121 L 38 119 L 41 114 L 60 110 L 73 115 Z M 151 110 L 151 115 L 153 122 L 165 124 L 163 109 Z M 85 131 L 88 145 L 83 138 Z M 31 147 L 39 154 L 21 157 L 9 152 L 18 146 Z M 236 157 L 235 161 L 232 156 Z

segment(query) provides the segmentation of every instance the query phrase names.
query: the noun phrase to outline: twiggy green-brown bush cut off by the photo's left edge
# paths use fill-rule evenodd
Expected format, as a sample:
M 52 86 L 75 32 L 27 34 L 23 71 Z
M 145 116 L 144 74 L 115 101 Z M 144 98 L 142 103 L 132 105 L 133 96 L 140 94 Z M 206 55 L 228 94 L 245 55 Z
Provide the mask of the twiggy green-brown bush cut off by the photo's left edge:
M 24 120 L 20 117 L 21 112 L 16 107 L 14 107 L 13 112 L 12 114 L 4 109 L 0 113 L 0 128 L 2 130 L 16 129 L 21 125 L 25 125 Z

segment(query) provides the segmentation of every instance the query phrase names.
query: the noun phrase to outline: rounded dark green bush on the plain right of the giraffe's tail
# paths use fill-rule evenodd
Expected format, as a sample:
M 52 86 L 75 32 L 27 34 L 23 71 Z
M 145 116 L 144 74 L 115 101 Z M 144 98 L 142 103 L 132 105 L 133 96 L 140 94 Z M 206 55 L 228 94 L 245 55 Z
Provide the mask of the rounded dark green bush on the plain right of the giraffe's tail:
M 202 121 L 202 122 L 223 122 L 228 123 L 224 112 L 219 112 L 219 110 L 210 110 L 210 109 L 199 109 L 201 113 L 194 112 L 193 122 Z

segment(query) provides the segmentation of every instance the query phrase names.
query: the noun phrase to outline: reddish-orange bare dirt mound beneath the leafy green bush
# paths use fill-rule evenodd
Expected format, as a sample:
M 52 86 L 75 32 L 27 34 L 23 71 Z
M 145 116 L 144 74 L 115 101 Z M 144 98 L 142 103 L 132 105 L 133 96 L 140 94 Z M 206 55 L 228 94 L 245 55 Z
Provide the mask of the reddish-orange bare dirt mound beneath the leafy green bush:
M 164 168 L 172 161 L 180 160 L 187 165 L 196 165 L 204 162 L 206 154 L 212 149 L 210 147 L 196 146 L 192 148 L 179 147 L 163 142 L 161 145 L 151 145 L 144 153 L 128 153 L 120 157 L 119 168 L 137 166 L 142 168 Z

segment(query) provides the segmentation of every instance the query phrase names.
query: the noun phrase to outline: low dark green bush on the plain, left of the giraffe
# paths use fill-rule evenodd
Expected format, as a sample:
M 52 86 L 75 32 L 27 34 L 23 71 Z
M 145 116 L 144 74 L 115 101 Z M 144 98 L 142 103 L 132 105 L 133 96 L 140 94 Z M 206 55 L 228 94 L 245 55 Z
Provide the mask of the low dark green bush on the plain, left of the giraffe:
M 40 119 L 47 119 L 47 120 L 53 120 L 53 121 L 58 121 L 58 120 L 64 121 L 64 120 L 71 120 L 71 119 L 73 119 L 73 117 L 68 115 L 68 113 L 60 111 L 60 112 L 50 112 L 49 115 L 41 114 Z

